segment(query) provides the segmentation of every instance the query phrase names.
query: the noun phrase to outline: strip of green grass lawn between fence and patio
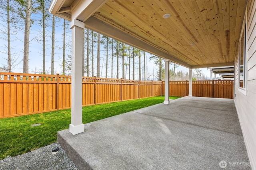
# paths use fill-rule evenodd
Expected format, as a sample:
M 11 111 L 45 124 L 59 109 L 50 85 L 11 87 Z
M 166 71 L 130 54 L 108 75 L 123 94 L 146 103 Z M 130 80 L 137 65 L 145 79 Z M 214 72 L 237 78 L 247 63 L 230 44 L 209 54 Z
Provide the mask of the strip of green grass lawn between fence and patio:
M 171 96 L 170 99 L 180 97 Z M 83 123 L 104 119 L 164 102 L 152 97 L 83 107 Z M 57 141 L 57 132 L 68 129 L 71 109 L 0 119 L 0 160 L 16 156 Z M 31 127 L 33 124 L 40 126 Z

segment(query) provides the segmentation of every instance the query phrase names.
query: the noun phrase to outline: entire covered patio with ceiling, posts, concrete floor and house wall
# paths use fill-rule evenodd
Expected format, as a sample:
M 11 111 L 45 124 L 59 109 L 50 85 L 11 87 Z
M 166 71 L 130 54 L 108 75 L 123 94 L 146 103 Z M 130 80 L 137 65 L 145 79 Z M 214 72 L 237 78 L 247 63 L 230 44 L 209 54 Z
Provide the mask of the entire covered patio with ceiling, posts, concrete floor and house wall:
M 253 0 L 52 0 L 49 11 L 71 21 L 71 123 L 58 142 L 79 168 L 218 169 L 249 156 L 255 169 Z M 82 124 L 84 28 L 162 57 L 166 82 L 170 62 L 189 68 L 189 97 L 170 101 L 166 83 L 164 104 Z M 233 65 L 234 101 L 192 97 L 193 68 Z

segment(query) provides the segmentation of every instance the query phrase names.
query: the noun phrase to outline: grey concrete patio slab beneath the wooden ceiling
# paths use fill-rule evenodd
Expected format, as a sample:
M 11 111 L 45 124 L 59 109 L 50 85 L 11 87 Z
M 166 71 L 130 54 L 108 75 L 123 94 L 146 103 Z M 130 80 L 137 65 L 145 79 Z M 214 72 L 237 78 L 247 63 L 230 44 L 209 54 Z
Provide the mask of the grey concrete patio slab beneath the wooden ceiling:
M 183 97 L 59 131 L 58 143 L 80 170 L 251 169 L 232 99 Z

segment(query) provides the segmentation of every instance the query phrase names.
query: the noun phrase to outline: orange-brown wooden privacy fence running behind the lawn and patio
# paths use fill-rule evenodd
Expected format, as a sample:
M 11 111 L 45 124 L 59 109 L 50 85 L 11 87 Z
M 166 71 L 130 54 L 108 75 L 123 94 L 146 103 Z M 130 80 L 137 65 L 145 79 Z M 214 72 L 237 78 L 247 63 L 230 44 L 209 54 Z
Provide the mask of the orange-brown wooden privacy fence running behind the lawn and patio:
M 164 82 L 82 78 L 82 105 L 164 94 Z M 193 81 L 192 95 L 233 98 L 233 81 Z M 188 81 L 170 81 L 170 96 L 188 96 Z M 0 118 L 71 107 L 71 76 L 0 72 Z

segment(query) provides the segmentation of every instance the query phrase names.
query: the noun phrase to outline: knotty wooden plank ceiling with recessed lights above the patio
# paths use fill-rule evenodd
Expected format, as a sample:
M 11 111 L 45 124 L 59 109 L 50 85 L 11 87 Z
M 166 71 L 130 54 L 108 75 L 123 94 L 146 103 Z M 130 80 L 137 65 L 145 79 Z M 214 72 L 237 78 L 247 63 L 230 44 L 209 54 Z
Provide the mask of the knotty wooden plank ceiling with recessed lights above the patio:
M 246 0 L 108 0 L 93 17 L 197 68 L 234 63 L 245 6 Z

